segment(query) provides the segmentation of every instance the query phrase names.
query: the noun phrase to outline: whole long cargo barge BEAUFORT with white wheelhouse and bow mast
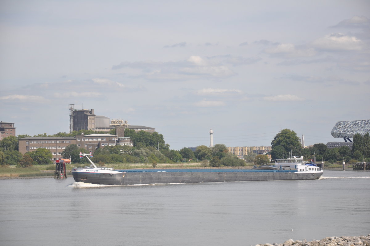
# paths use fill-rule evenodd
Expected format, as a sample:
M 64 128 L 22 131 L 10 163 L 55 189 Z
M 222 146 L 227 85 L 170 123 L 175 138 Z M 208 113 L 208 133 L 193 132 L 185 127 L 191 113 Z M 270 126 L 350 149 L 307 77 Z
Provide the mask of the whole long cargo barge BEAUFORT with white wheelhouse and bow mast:
M 75 167 L 75 182 L 98 185 L 149 185 L 176 183 L 241 182 L 265 180 L 319 179 L 323 170 L 312 164 L 276 162 L 273 166 L 255 169 L 124 169 L 97 167 L 90 158 L 90 167 Z M 303 159 L 303 158 L 302 158 Z

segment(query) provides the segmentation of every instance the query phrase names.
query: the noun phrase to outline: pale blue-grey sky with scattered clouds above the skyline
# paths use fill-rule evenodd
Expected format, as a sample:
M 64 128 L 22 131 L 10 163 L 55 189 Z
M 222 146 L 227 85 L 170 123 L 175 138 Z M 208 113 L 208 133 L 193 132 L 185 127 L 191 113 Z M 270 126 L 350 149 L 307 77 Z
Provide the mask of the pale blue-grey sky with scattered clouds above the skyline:
M 0 115 L 68 132 L 68 104 L 170 149 L 340 141 L 370 119 L 370 1 L 0 1 Z

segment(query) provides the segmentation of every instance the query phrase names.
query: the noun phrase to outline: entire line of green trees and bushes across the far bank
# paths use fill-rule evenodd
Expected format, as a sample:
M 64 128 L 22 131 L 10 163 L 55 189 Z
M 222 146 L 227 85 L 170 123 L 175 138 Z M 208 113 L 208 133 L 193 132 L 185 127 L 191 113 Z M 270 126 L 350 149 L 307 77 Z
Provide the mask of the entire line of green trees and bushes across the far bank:
M 114 129 L 112 129 L 114 130 Z M 59 132 L 52 136 L 75 136 L 103 133 L 92 130 L 80 130 L 72 133 Z M 114 134 L 114 132 L 110 132 Z M 193 152 L 189 148 L 181 150 L 170 149 L 166 144 L 162 134 L 157 132 L 149 133 L 145 131 L 135 132 L 133 129 L 125 129 L 125 136 L 134 140 L 134 146 L 105 146 L 95 150 L 92 160 L 96 163 L 173 163 L 173 162 L 196 162 L 206 161 L 210 166 L 245 166 L 246 162 L 255 164 L 268 163 L 266 155 L 248 153 L 244 160 L 230 153 L 225 144 L 215 144 L 213 147 L 205 145 L 198 146 Z M 52 154 L 49 150 L 39 148 L 33 152 L 22 155 L 18 150 L 18 139 L 30 137 L 27 134 L 17 137 L 9 136 L 0 141 L 0 164 L 30 166 L 33 164 L 51 164 Z M 47 137 L 46 133 L 38 134 L 34 137 Z M 49 135 L 49 137 L 51 137 Z M 323 143 L 314 144 L 313 147 L 302 148 L 297 134 L 289 129 L 283 129 L 276 134 L 271 142 L 273 159 L 283 159 L 289 156 L 303 156 L 311 159 L 316 156 L 316 160 L 325 160 L 334 163 L 344 160 L 346 162 L 370 162 L 370 137 L 369 133 L 364 136 L 356 134 L 353 137 L 352 150 L 347 146 L 329 149 Z M 84 148 L 77 147 L 76 144 L 67 146 L 61 155 L 71 157 L 73 163 L 86 163 L 85 158 L 80 158 L 80 153 L 88 153 Z

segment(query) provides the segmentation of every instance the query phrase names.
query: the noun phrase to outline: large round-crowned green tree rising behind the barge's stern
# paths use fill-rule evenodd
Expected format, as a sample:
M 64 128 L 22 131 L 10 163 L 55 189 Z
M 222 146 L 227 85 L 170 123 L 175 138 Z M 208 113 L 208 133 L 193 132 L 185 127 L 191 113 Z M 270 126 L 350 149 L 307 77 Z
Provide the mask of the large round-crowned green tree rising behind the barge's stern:
M 271 146 L 272 150 L 276 146 L 282 146 L 284 148 L 284 152 L 287 153 L 287 156 L 290 152 L 292 152 L 292 155 L 299 155 L 302 147 L 297 134 L 289 129 L 283 129 L 280 133 L 277 133 L 274 139 L 271 141 Z

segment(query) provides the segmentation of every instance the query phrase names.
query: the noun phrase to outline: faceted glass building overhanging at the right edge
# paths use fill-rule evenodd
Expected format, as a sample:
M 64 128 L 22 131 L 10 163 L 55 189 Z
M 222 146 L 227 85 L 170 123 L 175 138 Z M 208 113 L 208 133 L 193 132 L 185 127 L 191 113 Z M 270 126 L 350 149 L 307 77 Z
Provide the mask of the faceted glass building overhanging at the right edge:
M 330 133 L 334 138 L 349 139 L 357 133 L 364 136 L 367 132 L 370 132 L 370 120 L 351 120 L 337 122 Z

